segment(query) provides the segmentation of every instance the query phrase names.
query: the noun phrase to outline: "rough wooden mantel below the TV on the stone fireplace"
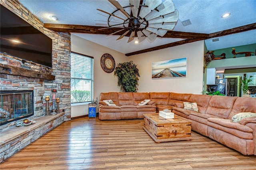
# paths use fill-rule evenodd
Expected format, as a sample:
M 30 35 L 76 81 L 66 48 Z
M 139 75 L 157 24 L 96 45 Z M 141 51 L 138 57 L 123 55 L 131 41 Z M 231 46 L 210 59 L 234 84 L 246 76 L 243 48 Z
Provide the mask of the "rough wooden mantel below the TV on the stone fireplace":
M 29 69 L 14 67 L 11 65 L 0 64 L 0 73 L 9 75 L 18 75 L 23 77 L 32 77 L 38 79 L 54 80 L 55 76 L 47 73 L 40 73 Z

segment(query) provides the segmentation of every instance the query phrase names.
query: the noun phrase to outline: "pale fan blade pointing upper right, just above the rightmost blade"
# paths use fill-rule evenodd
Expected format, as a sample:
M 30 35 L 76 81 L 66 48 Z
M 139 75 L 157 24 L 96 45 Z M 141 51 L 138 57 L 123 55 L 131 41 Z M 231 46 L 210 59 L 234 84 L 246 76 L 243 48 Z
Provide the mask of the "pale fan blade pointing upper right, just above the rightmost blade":
M 171 0 L 164 1 L 160 6 L 156 8 L 156 10 L 153 10 L 150 12 L 145 19 L 151 20 L 154 18 L 157 18 L 159 16 L 163 16 L 166 14 L 170 14 L 175 11 L 174 3 Z

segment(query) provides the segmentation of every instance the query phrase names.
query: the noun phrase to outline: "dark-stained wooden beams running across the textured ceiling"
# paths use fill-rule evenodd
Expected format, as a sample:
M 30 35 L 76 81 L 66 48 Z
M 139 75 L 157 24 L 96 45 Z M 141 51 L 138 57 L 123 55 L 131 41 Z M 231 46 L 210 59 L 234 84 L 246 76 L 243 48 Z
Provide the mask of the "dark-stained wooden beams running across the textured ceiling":
M 110 29 L 99 30 L 100 28 L 106 28 L 106 27 L 68 25 L 68 24 L 47 24 L 47 23 L 44 24 L 44 27 L 48 28 L 50 30 L 56 31 L 56 32 L 76 32 L 76 33 L 103 34 L 103 35 L 108 35 L 108 34 L 111 34 L 113 32 L 116 32 L 116 31 L 122 29 L 122 28 L 110 28 Z M 229 30 L 214 32 L 214 33 L 211 33 L 211 34 L 168 31 L 163 36 L 163 38 L 184 38 L 186 40 L 173 42 L 173 43 L 168 43 L 168 44 L 165 44 L 165 45 L 160 45 L 160 46 L 152 47 L 152 48 L 148 48 L 148 49 L 143 49 L 143 50 L 140 50 L 140 51 L 127 53 L 125 55 L 126 56 L 136 55 L 136 54 L 140 54 L 140 53 L 146 53 L 146 52 L 149 52 L 149 51 L 155 51 L 155 50 L 158 50 L 158 49 L 174 47 L 176 45 L 182 45 L 182 44 L 185 44 L 185 43 L 191 43 L 191 42 L 196 42 L 196 41 L 200 41 L 200 40 L 206 40 L 206 39 L 209 39 L 209 38 L 226 36 L 226 35 L 230 35 L 230 34 L 235 34 L 235 33 L 239 33 L 239 32 L 255 30 L 255 29 L 256 29 L 256 23 L 248 24 L 248 25 L 240 26 L 240 27 L 236 27 L 236 28 L 232 28 L 232 29 L 229 29 Z M 125 30 L 121 31 L 121 32 L 118 32 L 115 35 L 122 35 L 122 34 L 124 34 L 124 32 L 125 32 Z M 130 36 L 130 35 L 127 34 L 126 36 Z

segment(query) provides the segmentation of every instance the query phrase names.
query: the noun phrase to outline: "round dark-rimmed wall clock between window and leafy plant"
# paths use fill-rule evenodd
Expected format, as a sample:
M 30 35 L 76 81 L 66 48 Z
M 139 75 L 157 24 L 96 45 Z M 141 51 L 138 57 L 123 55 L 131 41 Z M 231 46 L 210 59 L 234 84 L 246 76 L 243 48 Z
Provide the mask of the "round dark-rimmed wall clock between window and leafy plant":
M 103 54 L 100 59 L 100 65 L 106 73 L 111 73 L 116 67 L 116 63 L 112 55 Z

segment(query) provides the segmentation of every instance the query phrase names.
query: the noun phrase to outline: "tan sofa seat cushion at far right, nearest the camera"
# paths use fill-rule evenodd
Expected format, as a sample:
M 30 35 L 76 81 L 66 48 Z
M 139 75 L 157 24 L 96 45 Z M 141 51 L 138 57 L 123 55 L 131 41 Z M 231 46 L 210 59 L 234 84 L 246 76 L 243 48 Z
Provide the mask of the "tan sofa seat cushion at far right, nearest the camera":
M 207 125 L 243 139 L 252 139 L 252 129 L 229 119 L 209 118 Z

